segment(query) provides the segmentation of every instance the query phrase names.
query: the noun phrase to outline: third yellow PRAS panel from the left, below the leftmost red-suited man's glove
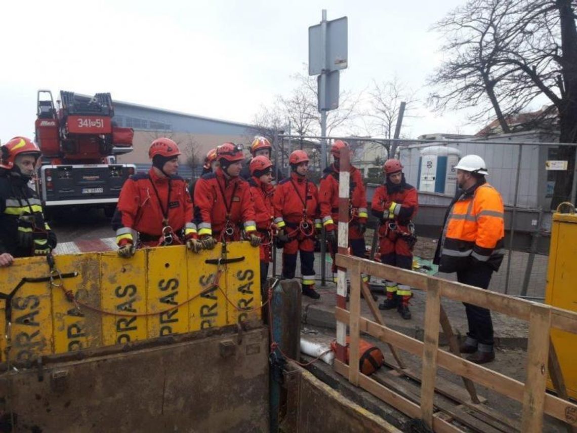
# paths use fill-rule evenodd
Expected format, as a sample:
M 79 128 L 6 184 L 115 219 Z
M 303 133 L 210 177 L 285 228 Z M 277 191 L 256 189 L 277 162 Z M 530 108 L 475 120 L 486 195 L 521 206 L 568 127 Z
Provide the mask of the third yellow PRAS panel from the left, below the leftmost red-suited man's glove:
M 126 344 L 147 338 L 147 257 L 148 249 L 140 249 L 130 259 L 118 257 L 114 251 L 100 257 L 100 296 L 102 309 L 126 316 L 104 314 L 102 341 L 104 345 Z

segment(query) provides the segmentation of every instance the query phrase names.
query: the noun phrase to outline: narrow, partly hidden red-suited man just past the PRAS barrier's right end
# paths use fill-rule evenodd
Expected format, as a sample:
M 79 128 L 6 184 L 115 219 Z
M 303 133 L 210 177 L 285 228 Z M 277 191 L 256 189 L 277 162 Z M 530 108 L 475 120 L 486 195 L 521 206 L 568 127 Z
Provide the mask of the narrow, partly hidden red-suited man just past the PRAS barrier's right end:
M 254 199 L 256 229 L 261 238 L 260 244 L 260 286 L 267 287 L 268 264 L 272 262 L 273 210 L 272 195 L 275 187 L 272 182 L 272 162 L 266 156 L 255 156 L 250 160 L 250 192 Z

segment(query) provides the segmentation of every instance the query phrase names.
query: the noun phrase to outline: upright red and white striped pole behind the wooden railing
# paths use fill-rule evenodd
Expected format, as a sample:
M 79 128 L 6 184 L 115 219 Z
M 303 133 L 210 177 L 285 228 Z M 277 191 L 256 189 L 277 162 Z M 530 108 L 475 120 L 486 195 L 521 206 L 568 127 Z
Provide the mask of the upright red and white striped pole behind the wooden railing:
M 338 253 L 349 254 L 350 150 L 340 151 Z M 336 268 L 336 306 L 347 309 L 347 270 Z M 346 363 L 347 324 L 336 322 L 336 359 Z

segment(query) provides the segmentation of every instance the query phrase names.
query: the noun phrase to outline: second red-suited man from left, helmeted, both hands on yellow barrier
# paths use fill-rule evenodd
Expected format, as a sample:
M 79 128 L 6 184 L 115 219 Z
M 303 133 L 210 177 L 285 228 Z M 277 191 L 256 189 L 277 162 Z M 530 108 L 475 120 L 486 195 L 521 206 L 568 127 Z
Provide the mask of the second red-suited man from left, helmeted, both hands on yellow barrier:
M 240 241 L 258 247 L 260 236 L 254 222 L 254 200 L 248 182 L 239 177 L 244 155 L 241 144 L 224 143 L 216 149 L 220 163 L 194 187 L 194 221 L 204 248 L 216 242 Z M 245 236 L 242 236 L 242 232 Z

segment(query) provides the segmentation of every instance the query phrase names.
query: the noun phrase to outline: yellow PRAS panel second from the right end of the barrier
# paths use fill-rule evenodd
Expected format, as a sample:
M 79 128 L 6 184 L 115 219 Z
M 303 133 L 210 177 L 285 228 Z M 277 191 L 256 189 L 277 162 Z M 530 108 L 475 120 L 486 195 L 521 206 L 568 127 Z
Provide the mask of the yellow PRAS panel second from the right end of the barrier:
M 198 331 L 213 327 L 226 326 L 226 300 L 216 287 L 197 296 L 215 282 L 218 266 L 206 263 L 206 260 L 217 260 L 222 252 L 222 244 L 217 244 L 212 250 L 195 254 L 186 253 L 188 260 L 188 293 L 194 297 L 189 303 L 189 331 Z M 220 277 L 220 285 L 224 285 L 225 275 Z M 196 296 L 196 297 L 195 297 Z

